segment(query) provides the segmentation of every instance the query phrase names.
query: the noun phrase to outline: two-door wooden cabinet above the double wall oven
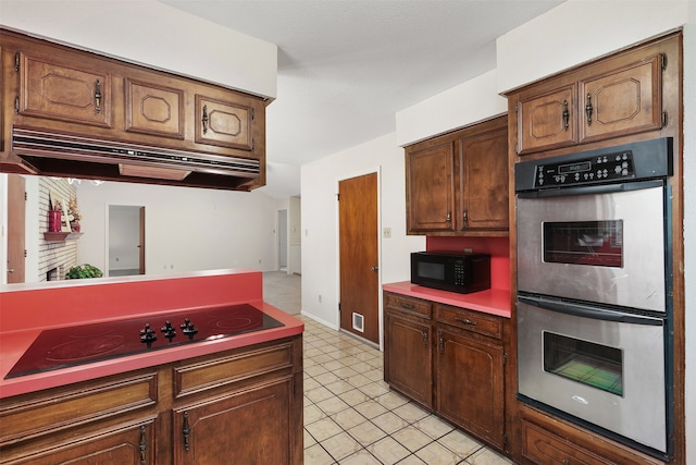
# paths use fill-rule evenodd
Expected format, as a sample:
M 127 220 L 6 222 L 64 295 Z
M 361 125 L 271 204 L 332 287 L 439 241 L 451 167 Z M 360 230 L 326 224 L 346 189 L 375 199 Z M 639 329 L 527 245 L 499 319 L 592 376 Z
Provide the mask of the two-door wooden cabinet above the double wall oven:
M 664 42 L 629 50 L 508 95 L 517 155 L 661 130 Z

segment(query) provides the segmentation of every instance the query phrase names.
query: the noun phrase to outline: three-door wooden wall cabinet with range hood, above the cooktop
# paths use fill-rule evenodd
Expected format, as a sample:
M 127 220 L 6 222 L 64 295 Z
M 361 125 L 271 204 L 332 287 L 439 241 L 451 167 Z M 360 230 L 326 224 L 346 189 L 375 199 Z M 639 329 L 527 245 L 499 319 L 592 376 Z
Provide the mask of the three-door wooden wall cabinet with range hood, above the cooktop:
M 13 127 L 22 127 L 32 134 L 46 131 L 72 137 L 75 144 L 87 139 L 108 147 L 129 144 L 144 151 L 161 149 L 178 157 L 200 154 L 214 160 L 204 166 L 211 169 L 224 164 L 225 157 L 249 159 L 259 162 L 260 173 L 240 181 L 239 188 L 265 184 L 264 98 L 5 29 L 0 29 L 0 91 L 3 101 L 11 103 L 2 109 L 3 140 L 11 142 L 18 134 Z M 157 169 L 127 160 L 115 174 L 96 163 L 82 163 L 95 161 L 94 156 L 89 158 L 92 151 L 85 151 L 80 163 L 59 166 L 54 160 L 60 160 L 60 155 L 25 154 L 23 147 L 23 159 L 12 150 L 16 150 L 13 144 L 3 145 L 0 164 L 4 171 L 102 180 L 117 180 L 119 174 L 157 179 L 158 174 Z M 27 161 L 26 156 L 33 158 Z M 182 180 L 166 178 L 163 170 L 159 174 L 156 183 L 182 184 L 174 182 Z M 190 185 L 221 183 L 212 178 L 190 178 L 186 181 Z

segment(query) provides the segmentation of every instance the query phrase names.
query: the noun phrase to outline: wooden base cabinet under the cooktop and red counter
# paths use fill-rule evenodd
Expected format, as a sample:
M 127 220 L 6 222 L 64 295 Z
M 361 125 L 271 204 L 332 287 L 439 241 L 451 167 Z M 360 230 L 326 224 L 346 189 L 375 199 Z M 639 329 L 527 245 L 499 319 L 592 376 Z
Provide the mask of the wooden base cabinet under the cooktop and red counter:
M 300 335 L 0 401 L 0 463 L 302 463 Z

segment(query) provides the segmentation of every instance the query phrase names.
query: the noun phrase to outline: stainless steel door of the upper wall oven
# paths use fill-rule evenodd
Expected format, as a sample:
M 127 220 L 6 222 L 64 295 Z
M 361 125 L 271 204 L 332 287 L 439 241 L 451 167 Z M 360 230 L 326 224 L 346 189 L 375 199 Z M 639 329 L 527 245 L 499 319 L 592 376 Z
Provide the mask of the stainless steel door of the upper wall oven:
M 663 183 L 605 187 L 518 195 L 519 291 L 666 311 Z

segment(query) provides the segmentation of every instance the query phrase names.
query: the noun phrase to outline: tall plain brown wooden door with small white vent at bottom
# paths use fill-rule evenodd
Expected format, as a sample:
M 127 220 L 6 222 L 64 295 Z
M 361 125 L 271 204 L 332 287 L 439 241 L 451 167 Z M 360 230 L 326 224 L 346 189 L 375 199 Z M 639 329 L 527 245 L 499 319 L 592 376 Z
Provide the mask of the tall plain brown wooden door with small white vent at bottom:
M 338 200 L 340 328 L 378 344 L 377 173 L 340 181 Z

